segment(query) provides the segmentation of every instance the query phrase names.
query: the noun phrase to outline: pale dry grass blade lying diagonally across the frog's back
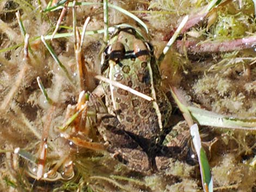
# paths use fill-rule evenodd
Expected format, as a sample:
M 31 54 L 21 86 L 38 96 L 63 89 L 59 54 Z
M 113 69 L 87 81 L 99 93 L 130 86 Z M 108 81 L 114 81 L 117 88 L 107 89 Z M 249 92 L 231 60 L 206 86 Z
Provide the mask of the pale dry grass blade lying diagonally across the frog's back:
M 99 80 L 102 80 L 102 82 L 106 82 L 106 83 L 109 83 L 109 84 L 111 84 L 113 86 L 116 86 L 117 88 L 129 91 L 129 92 L 131 92 L 131 94 L 134 94 L 134 95 L 137 95 L 139 97 L 142 97 L 145 100 L 154 101 L 154 99 L 152 97 L 149 97 L 148 95 L 145 95 L 142 92 L 136 91 L 136 90 L 130 88 L 129 86 L 123 85 L 123 84 L 118 83 L 118 82 L 116 82 L 114 80 L 108 79 L 108 78 L 100 76 L 100 75 L 96 75 L 95 78 L 99 79 Z

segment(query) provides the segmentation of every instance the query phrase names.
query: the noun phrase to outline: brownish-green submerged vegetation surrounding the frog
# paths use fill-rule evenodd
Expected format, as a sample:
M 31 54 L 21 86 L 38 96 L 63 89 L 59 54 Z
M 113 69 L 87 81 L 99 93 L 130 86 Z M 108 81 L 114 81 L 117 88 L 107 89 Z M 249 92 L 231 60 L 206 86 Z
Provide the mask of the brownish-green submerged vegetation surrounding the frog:
M 162 171 L 151 175 L 114 159 L 92 122 L 86 121 L 95 112 L 87 111 L 88 96 L 80 92 L 96 92 L 100 77 L 95 74 L 100 73 L 100 55 L 106 46 L 102 1 L 76 6 L 60 2 L 65 3 L 0 2 L 0 189 L 203 191 L 189 127 L 170 86 L 178 87 L 190 106 L 255 125 L 253 1 L 215 1 L 218 4 L 211 8 L 214 1 L 108 2 L 109 31 L 124 23 L 141 28 L 157 58 L 182 18 L 189 16 L 160 66 L 162 88 L 174 108 L 164 134 L 168 141 L 180 142 L 182 154 L 166 160 Z M 200 127 L 214 191 L 255 191 L 253 128 Z M 177 135 L 185 139 L 176 141 Z

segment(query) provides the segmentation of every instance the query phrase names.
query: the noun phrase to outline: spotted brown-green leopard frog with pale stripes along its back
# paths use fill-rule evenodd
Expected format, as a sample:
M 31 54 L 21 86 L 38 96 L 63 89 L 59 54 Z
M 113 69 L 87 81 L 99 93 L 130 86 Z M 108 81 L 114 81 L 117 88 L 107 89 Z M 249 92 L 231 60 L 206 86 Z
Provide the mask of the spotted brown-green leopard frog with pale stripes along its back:
M 134 28 L 119 28 L 103 53 L 102 69 L 107 78 L 154 99 L 147 101 L 101 82 L 108 113 L 97 110 L 97 127 L 108 151 L 134 170 L 150 171 L 160 132 L 172 110 L 161 90 L 154 48 Z

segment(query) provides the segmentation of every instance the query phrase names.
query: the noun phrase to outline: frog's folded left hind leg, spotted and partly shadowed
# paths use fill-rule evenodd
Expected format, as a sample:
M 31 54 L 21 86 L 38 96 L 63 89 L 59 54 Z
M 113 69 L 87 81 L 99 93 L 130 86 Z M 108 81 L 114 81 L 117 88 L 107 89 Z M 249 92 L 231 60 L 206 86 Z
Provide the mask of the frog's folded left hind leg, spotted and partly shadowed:
M 150 172 L 151 164 L 147 153 L 124 131 L 124 125 L 110 114 L 97 114 L 98 129 L 107 143 L 107 149 L 114 158 L 126 164 L 132 170 Z

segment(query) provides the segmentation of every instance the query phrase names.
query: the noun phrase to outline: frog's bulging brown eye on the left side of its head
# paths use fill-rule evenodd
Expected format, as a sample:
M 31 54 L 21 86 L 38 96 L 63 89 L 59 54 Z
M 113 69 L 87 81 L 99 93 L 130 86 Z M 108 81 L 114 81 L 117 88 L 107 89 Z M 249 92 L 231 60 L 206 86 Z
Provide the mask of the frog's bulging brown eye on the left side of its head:
M 121 42 L 115 42 L 106 51 L 108 59 L 113 61 L 121 60 L 125 57 L 125 47 Z

